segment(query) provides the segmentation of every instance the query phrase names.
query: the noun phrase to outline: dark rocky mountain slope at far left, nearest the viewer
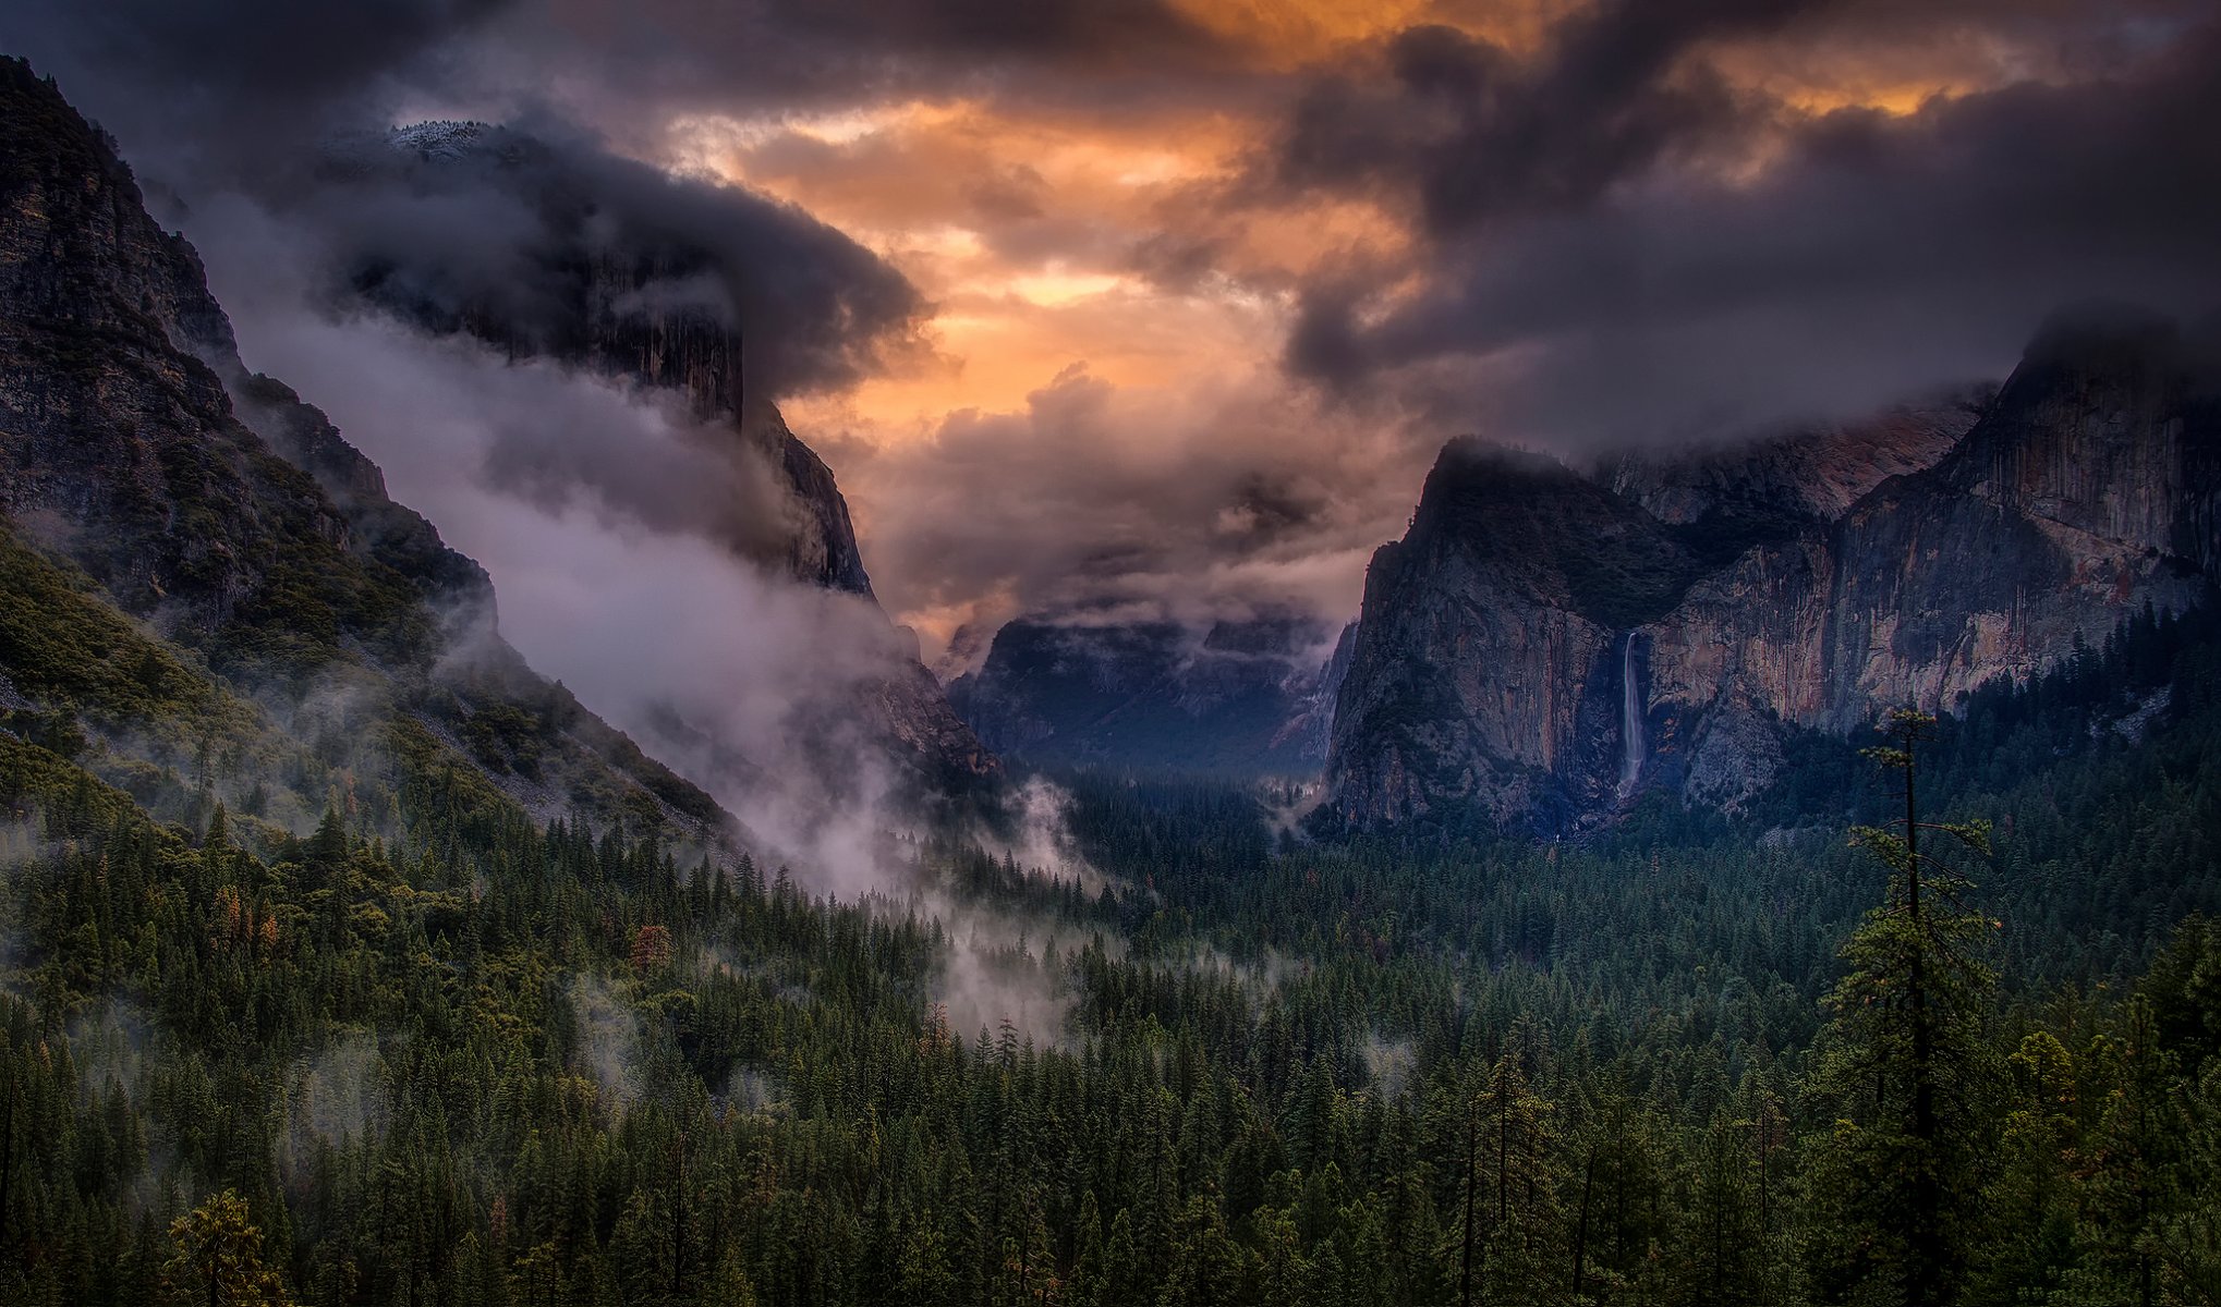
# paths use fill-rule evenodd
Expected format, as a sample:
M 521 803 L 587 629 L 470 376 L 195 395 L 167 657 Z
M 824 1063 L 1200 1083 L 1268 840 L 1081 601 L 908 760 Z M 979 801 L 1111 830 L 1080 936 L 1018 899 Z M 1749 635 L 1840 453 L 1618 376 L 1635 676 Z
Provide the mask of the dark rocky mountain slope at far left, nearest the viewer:
M 375 464 L 249 375 L 193 249 L 113 142 L 0 62 L 0 788 L 78 763 L 155 814 L 271 830 L 589 814 L 735 834 L 495 628 L 486 575 Z M 233 399 L 238 391 L 238 402 Z

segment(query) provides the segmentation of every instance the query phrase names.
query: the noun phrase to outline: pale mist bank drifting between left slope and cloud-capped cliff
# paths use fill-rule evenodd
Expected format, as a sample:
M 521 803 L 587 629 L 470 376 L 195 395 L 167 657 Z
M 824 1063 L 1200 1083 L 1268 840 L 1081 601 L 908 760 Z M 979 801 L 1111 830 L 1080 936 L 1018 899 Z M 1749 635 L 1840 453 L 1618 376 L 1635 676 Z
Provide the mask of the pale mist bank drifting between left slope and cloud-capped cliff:
M 302 295 L 313 242 L 247 200 L 204 211 L 240 353 L 322 406 L 389 493 L 491 573 L 542 672 L 702 783 L 817 883 L 877 883 L 900 817 L 864 703 L 908 646 L 862 595 L 735 548 L 784 484 L 669 395 Z M 289 257 L 302 253 L 309 262 Z M 715 433 L 713 433 L 715 435 Z M 691 484 L 691 486 L 689 486 Z

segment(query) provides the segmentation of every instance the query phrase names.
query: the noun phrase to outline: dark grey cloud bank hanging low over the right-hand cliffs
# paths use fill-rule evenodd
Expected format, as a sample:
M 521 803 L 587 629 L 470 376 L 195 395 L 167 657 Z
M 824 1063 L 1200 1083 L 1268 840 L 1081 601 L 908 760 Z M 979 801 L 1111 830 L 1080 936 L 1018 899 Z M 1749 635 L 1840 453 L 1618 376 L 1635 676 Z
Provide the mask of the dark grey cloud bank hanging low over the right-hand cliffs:
M 1597 444 L 1983 375 L 2070 300 L 2210 308 L 2221 31 L 2168 36 L 2117 75 L 1908 115 L 1723 102 L 1655 120 L 1672 131 L 1644 149 L 1624 149 L 1621 100 L 1606 98 L 1592 149 L 1546 173 L 1517 131 L 1519 144 L 1450 153 L 1375 142 L 1386 162 L 1337 184 L 1401 169 L 1428 215 L 1421 280 L 1395 300 L 1315 282 L 1286 359 L 1341 388 L 1393 377 L 1446 419 Z M 1575 104 L 1564 113 L 1579 120 Z M 1659 166 L 1737 131 L 1763 151 L 1746 175 Z

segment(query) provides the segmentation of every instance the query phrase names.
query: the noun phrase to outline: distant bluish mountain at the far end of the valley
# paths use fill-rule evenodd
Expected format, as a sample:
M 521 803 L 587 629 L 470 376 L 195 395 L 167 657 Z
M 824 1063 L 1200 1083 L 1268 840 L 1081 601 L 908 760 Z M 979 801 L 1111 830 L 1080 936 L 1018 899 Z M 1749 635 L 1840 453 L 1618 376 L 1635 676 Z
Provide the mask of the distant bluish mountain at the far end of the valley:
M 988 748 L 1035 763 L 1315 774 L 1341 666 L 1319 659 L 1328 632 L 1293 612 L 1202 630 L 1022 617 L 948 697 Z

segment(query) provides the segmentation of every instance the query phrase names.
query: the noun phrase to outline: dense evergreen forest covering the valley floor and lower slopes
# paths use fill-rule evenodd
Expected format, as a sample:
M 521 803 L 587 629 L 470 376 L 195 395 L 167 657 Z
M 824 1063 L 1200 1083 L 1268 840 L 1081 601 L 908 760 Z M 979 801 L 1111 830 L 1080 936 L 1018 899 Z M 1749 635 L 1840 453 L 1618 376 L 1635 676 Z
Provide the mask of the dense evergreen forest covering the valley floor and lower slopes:
M 1872 759 L 1830 825 L 1590 845 L 1091 777 L 1086 883 L 928 841 L 831 903 L 462 774 L 249 852 L 0 737 L 4 1298 L 2210 1303 L 2199 630 L 1915 743 L 1992 845 L 1928 837 L 1919 930 Z

